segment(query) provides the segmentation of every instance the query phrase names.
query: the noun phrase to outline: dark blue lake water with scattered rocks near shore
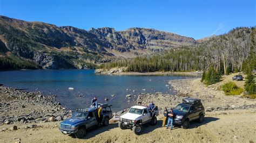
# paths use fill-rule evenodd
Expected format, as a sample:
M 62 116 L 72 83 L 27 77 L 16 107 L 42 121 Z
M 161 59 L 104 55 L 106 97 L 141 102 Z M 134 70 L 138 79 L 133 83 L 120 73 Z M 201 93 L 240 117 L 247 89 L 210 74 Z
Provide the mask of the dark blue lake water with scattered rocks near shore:
M 174 94 L 172 87 L 169 89 L 167 86 L 168 80 L 181 78 L 190 76 L 98 75 L 94 74 L 94 70 L 79 69 L 0 71 L 0 83 L 5 86 L 26 91 L 37 90 L 44 95 L 55 94 L 56 102 L 72 110 L 89 106 L 93 96 L 97 96 L 98 103 L 113 104 L 113 111 L 119 111 L 131 106 L 132 100 L 136 99 L 132 97 L 127 102 L 127 94 Z M 70 91 L 70 87 L 74 90 Z M 105 101 L 105 97 L 109 101 Z

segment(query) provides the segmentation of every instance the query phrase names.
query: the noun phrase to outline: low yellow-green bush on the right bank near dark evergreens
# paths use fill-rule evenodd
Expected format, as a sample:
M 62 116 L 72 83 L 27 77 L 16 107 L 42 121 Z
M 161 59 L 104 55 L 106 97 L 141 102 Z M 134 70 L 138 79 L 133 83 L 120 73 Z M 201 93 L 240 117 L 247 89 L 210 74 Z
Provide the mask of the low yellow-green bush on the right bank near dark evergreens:
M 240 95 L 242 92 L 242 88 L 239 88 L 234 82 L 225 83 L 221 89 L 225 92 L 225 95 Z

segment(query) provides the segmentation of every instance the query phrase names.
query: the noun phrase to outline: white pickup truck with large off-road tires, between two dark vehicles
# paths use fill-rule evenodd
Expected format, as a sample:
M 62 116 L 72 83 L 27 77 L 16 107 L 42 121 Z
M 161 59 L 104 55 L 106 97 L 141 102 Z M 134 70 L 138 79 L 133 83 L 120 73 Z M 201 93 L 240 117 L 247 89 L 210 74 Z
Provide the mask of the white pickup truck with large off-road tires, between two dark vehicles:
M 139 135 L 142 133 L 142 125 L 150 123 L 151 125 L 157 124 L 158 108 L 156 106 L 155 110 L 150 114 L 149 108 L 147 106 L 136 105 L 132 106 L 130 110 L 121 116 L 118 121 L 118 126 L 125 130 L 126 128 L 132 129 L 132 131 Z

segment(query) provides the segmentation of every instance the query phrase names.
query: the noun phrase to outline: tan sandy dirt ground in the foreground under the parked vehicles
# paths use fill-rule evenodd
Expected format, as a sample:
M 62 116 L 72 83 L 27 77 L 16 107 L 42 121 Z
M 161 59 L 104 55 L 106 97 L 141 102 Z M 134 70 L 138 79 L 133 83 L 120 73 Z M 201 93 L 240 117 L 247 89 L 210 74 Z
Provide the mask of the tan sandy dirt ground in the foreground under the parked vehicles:
M 226 115 L 225 115 L 226 114 Z M 202 124 L 191 123 L 191 128 L 173 130 L 161 127 L 158 119 L 156 126 L 144 125 L 142 135 L 131 130 L 121 130 L 117 124 L 97 127 L 87 131 L 84 139 L 76 139 L 62 134 L 58 130 L 59 122 L 38 124 L 42 127 L 25 129 L 26 125 L 17 125 L 17 131 L 0 132 L 0 142 L 255 142 L 255 109 L 232 110 L 227 112 L 207 112 Z M 30 124 L 29 124 L 30 125 Z M 2 127 L 10 127 L 3 125 Z

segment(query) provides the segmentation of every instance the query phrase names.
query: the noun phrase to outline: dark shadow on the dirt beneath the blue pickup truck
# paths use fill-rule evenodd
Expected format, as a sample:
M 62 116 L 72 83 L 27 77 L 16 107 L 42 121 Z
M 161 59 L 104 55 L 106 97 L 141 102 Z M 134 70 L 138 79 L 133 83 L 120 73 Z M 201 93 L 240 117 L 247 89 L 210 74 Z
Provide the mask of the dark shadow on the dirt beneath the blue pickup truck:
M 98 134 L 103 133 L 105 131 L 109 131 L 112 128 L 116 128 L 116 127 L 118 127 L 117 123 L 109 124 L 108 126 L 92 128 L 91 130 L 86 131 L 86 135 L 83 139 L 90 139 L 92 137 L 95 137 L 95 135 L 98 135 Z M 73 134 L 69 134 L 69 136 L 72 137 L 72 138 L 76 138 L 75 135 L 73 135 Z

